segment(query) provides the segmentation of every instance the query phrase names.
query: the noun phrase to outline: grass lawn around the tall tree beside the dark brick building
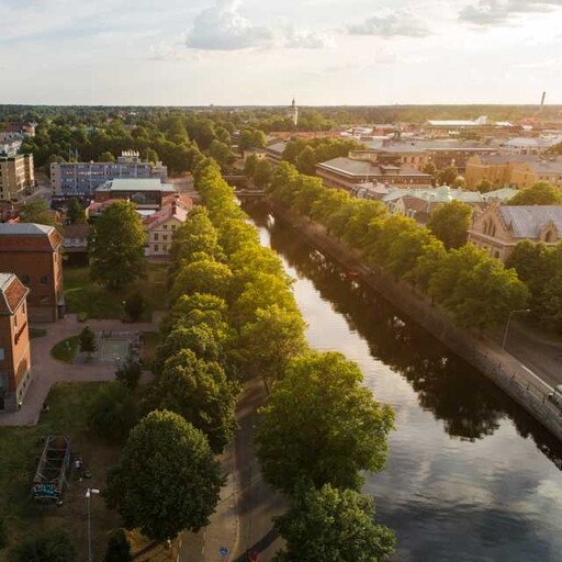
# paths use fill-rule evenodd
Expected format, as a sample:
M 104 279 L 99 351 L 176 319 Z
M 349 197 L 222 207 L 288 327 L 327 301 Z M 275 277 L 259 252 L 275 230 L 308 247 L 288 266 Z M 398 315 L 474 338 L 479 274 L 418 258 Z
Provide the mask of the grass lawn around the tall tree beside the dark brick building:
M 146 279 L 140 279 L 119 291 L 92 283 L 88 268 L 65 268 L 65 299 L 69 313 L 86 312 L 89 318 L 122 318 L 123 301 L 139 292 L 146 303 L 145 321 L 151 318 L 154 311 L 164 311 L 168 306 L 168 266 L 147 263 Z

